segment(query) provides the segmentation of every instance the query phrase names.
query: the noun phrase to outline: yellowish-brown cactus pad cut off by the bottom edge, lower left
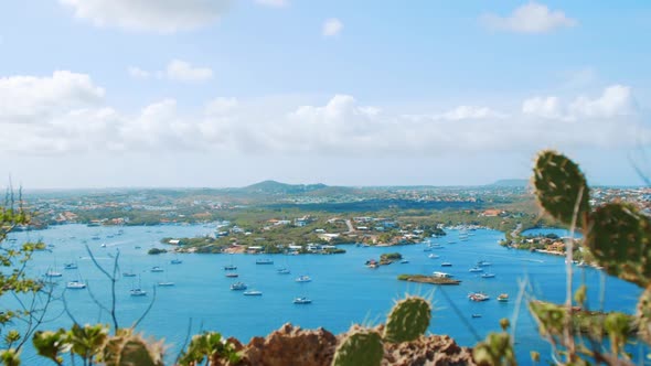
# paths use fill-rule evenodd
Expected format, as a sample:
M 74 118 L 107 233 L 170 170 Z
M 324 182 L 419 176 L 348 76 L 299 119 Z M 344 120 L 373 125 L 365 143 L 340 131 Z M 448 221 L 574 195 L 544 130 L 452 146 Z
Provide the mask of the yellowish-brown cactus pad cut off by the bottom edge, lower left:
M 122 333 L 108 340 L 103 360 L 106 366 L 163 366 L 162 354 L 159 343 Z

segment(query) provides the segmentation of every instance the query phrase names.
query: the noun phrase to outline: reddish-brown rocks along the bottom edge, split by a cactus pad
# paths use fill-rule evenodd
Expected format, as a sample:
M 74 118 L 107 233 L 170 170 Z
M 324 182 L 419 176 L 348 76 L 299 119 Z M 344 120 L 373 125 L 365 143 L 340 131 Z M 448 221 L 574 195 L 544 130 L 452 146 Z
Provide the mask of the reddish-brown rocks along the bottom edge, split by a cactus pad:
M 382 334 L 383 325 L 377 327 Z M 337 345 L 345 333 L 333 335 L 324 329 L 302 330 L 289 323 L 266 337 L 253 337 L 242 349 L 241 365 L 330 366 Z M 230 341 L 231 342 L 231 341 Z M 472 349 L 460 347 L 447 335 L 421 336 L 413 342 L 384 343 L 382 365 L 434 366 L 474 365 Z

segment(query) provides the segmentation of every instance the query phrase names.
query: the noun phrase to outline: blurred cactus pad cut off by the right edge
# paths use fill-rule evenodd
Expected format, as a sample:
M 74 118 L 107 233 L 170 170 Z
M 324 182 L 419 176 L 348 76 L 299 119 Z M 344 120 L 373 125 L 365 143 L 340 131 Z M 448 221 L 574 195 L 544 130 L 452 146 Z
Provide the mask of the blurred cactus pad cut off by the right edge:
M 651 222 L 630 204 L 612 203 L 590 215 L 586 245 L 610 274 L 645 288 L 651 282 Z

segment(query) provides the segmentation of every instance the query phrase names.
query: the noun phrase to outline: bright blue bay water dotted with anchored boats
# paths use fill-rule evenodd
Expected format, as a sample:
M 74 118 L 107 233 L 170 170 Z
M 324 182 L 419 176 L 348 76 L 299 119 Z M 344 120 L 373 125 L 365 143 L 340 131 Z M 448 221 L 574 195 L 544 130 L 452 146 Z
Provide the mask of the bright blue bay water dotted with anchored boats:
M 26 239 L 43 239 L 54 245 L 52 252 L 39 252 L 30 263 L 29 271 L 42 276 L 54 267 L 63 273 L 57 289 L 63 290 L 68 280 L 78 277 L 87 281 L 89 291 L 105 304 L 110 300 L 109 281 L 94 267 L 85 244 L 90 247 L 98 261 L 109 268 L 110 256 L 119 249 L 121 271 L 139 274 L 141 286 L 148 291 L 147 297 L 132 298 L 129 290 L 138 283 L 136 278 L 121 278 L 117 283 L 118 320 L 121 326 L 130 325 L 149 305 L 158 281 L 173 281 L 174 287 L 156 287 L 156 302 L 151 312 L 138 326 L 146 335 L 164 338 L 169 345 L 168 354 L 173 360 L 188 334 L 190 324 L 192 334 L 201 330 L 218 331 L 227 336 L 236 336 L 246 343 L 252 336 L 265 335 L 280 327 L 286 322 L 302 327 L 323 326 L 333 333 L 348 330 L 353 323 L 380 323 L 393 305 L 394 300 L 405 293 L 431 295 L 435 305 L 429 331 L 436 334 L 449 334 L 461 345 L 477 343 L 472 330 L 483 338 L 491 331 L 499 331 L 501 317 L 512 319 L 516 312 L 519 281 L 526 280 L 527 295 L 541 300 L 563 302 L 565 300 L 564 258 L 509 250 L 497 241 L 503 234 L 494 230 L 471 232 L 468 241 L 458 239 L 459 233 L 448 230 L 448 236 L 431 239 L 442 245 L 442 249 L 424 251 L 424 244 L 403 247 L 356 247 L 342 246 L 344 255 L 320 256 L 253 256 L 253 255 L 147 255 L 152 246 L 163 237 L 194 237 L 214 232 L 214 226 L 148 226 L 124 227 L 122 235 L 117 235 L 116 227 L 86 227 L 83 225 L 55 226 L 46 230 L 15 233 L 17 243 Z M 94 240 L 97 236 L 100 239 Z M 113 237 L 109 237 L 113 236 Z M 453 240 L 455 244 L 448 244 Z M 106 244 L 106 248 L 102 247 Z M 140 246 L 140 248 L 136 248 Z M 364 262 L 377 259 L 383 252 L 398 251 L 409 263 L 392 263 L 378 269 L 369 269 Z M 428 258 L 429 254 L 440 256 Z M 181 259 L 181 265 L 170 265 L 171 259 Z M 270 258 L 273 266 L 256 265 L 256 259 Z M 77 270 L 64 270 L 63 263 L 78 263 Z M 478 260 L 488 260 L 492 266 L 487 269 L 495 278 L 482 279 L 468 271 Z M 449 261 L 452 267 L 440 267 Z M 225 277 L 224 265 L 237 266 L 239 278 Z M 163 272 L 150 272 L 153 266 L 160 266 Z M 291 274 L 278 274 L 276 269 L 288 267 Z M 435 288 L 396 280 L 399 273 L 431 273 L 445 271 L 460 279 L 460 286 Z M 298 283 L 296 277 L 308 274 L 311 282 Z M 263 291 L 262 297 L 245 297 L 239 291 L 231 291 L 230 284 L 243 281 L 249 289 Z M 617 278 L 586 268 L 576 268 L 575 283 L 588 283 L 590 309 L 619 310 L 634 312 L 640 290 Z M 599 290 L 605 286 L 605 298 L 599 301 Z M 483 291 L 490 301 L 477 303 L 468 300 L 472 291 Z M 444 293 L 445 292 L 445 293 Z M 495 301 L 498 294 L 506 292 L 511 297 L 508 303 Z M 307 295 L 312 304 L 296 305 L 294 298 Z M 447 295 L 447 297 L 446 297 Z M 7 298 L 7 297 L 6 297 Z M 449 298 L 451 302 L 447 300 Z M 88 290 L 66 291 L 65 299 L 71 313 L 79 323 L 109 323 L 108 314 L 102 312 L 93 302 Z M 9 299 L 1 299 L 1 308 L 10 305 Z M 519 359 L 529 364 L 530 351 L 541 352 L 544 358 L 548 346 L 541 341 L 534 321 L 524 305 L 520 306 L 516 320 L 516 353 Z M 62 312 L 63 303 L 55 302 L 49 310 L 47 323 L 43 329 L 70 327 L 71 319 Z M 473 319 L 472 314 L 481 314 Z M 33 356 L 33 351 L 23 352 L 25 364 L 46 365 L 42 358 Z

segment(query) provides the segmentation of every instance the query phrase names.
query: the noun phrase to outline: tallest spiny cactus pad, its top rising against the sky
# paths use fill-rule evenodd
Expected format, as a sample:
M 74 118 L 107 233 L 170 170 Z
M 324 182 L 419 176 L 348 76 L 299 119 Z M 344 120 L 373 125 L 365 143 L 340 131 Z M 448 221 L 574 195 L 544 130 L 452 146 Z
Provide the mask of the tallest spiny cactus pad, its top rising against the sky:
M 541 206 L 554 218 L 570 225 L 579 198 L 577 224 L 583 226 L 590 205 L 586 177 L 578 165 L 561 153 L 545 150 L 538 154 L 533 171 Z

